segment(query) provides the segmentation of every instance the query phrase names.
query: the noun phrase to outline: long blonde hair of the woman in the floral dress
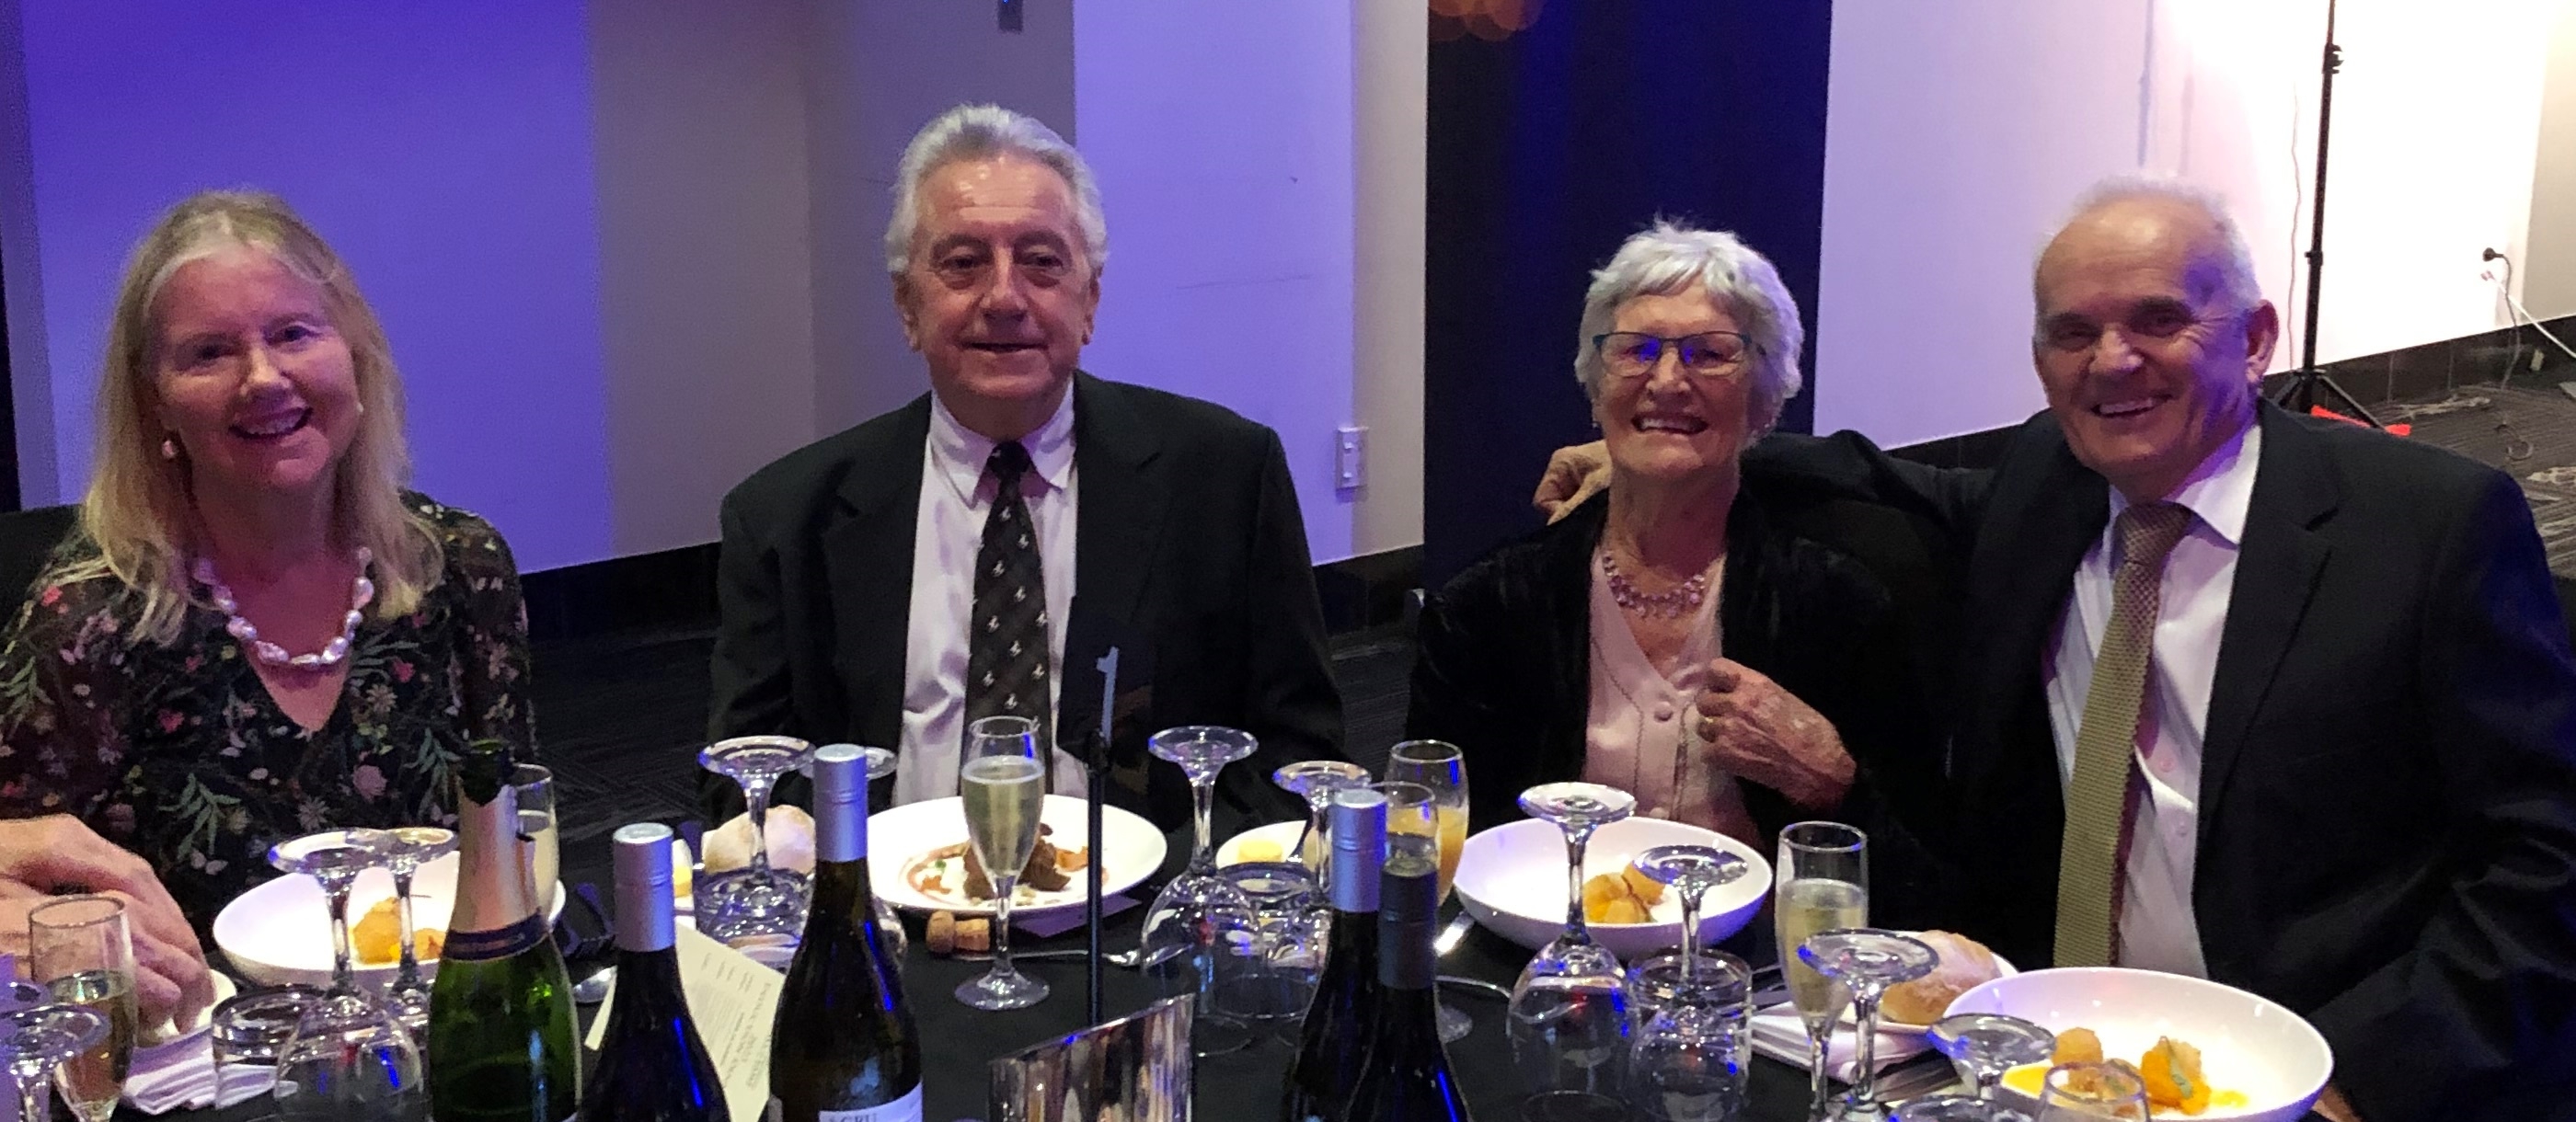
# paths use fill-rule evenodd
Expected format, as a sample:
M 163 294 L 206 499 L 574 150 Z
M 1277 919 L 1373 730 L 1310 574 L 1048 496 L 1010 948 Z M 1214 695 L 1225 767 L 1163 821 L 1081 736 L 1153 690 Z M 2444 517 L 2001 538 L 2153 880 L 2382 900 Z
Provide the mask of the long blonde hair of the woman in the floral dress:
M 188 461 L 160 453 L 167 435 L 155 422 L 162 342 L 155 304 L 183 265 L 222 250 L 265 252 L 322 288 L 332 329 L 348 342 L 363 407 L 358 432 L 332 474 L 332 533 L 376 553 L 371 612 L 379 620 L 410 615 L 438 587 L 446 556 L 430 522 L 402 502 L 412 453 L 402 443 L 402 376 L 394 371 L 394 353 L 340 255 L 283 198 L 258 190 L 201 190 L 183 198 L 126 262 L 98 378 L 90 492 L 80 499 L 80 530 L 98 543 L 98 556 L 77 564 L 67 579 L 113 576 L 139 594 L 142 612 L 131 630 L 137 641 L 170 643 L 191 605 L 211 610 L 188 579 L 188 558 L 204 551 L 196 540 L 201 528 Z

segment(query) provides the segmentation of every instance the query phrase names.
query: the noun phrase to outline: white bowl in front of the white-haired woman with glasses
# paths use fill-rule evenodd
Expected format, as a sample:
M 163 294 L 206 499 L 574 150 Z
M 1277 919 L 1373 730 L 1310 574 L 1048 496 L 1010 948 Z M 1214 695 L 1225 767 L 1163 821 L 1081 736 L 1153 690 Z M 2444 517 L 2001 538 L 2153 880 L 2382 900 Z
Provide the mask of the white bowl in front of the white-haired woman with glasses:
M 1744 929 L 1770 893 L 1770 862 L 1749 844 L 1664 818 L 1623 818 L 1592 831 L 1584 878 L 1618 872 L 1636 854 L 1703 844 L 1744 857 L 1744 875 L 1710 888 L 1700 901 L 1700 942 L 1713 944 Z M 1538 950 L 1566 929 L 1566 836 L 1551 821 L 1522 818 L 1466 839 L 1458 854 L 1458 901 L 1479 924 Z M 1682 944 L 1682 898 L 1664 893 L 1651 924 L 1587 924 L 1592 939 L 1623 962 Z

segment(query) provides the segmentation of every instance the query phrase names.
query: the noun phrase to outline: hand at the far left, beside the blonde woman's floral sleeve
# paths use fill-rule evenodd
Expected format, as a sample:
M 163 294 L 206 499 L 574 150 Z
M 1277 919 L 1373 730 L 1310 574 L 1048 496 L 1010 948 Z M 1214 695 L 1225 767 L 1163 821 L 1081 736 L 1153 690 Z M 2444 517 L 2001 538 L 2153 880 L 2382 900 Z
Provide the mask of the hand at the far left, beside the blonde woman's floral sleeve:
M 152 865 L 67 813 L 0 821 L 0 950 L 18 955 L 21 970 L 33 965 L 26 916 L 59 893 L 126 901 L 142 1024 L 196 1024 L 214 1004 L 206 952 Z

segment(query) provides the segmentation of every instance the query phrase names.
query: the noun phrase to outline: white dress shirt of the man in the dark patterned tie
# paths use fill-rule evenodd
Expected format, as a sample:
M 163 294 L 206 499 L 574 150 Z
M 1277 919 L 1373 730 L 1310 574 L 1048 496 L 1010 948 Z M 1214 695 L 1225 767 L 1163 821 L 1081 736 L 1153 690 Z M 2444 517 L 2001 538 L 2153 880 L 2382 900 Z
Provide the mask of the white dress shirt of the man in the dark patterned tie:
M 1038 528 L 1046 579 L 1046 697 L 1056 710 L 1064 677 L 1064 625 L 1074 602 L 1074 394 L 1020 440 L 1030 471 L 1020 499 Z M 922 502 L 912 528 L 912 610 L 904 625 L 904 741 L 896 746 L 894 800 L 917 803 L 958 793 L 958 746 L 966 739 L 966 618 L 974 612 L 974 561 L 999 481 L 984 471 L 994 440 L 958 425 L 930 396 L 930 440 L 922 448 Z M 1054 754 L 1056 793 L 1082 795 L 1082 762 Z

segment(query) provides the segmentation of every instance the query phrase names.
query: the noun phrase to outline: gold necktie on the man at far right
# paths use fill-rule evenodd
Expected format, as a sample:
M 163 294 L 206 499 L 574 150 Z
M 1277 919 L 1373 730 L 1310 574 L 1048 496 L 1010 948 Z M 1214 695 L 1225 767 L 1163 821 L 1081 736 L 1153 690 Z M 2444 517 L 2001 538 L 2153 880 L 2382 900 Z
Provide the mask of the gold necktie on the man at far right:
M 2066 836 L 2058 847 L 2056 965 L 2110 965 L 2120 852 L 2128 826 L 2128 782 L 2138 759 L 2138 713 L 2146 667 L 2156 646 L 2156 605 L 2164 556 L 2192 525 L 2192 512 L 2172 502 L 2146 502 L 2120 512 L 2120 569 L 2110 584 L 2110 625 L 2094 654 L 2084 723 L 2076 726 L 2076 767 L 2066 782 Z

